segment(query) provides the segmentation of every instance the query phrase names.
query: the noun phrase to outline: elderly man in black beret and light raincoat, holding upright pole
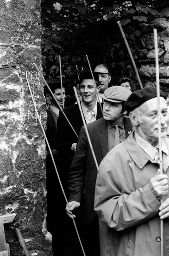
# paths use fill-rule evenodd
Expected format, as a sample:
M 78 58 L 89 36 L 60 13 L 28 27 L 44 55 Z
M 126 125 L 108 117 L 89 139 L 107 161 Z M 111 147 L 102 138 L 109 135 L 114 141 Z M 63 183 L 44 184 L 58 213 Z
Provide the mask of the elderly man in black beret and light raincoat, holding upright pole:
M 145 87 L 125 103 L 131 135 L 100 163 L 94 209 L 100 218 L 101 256 L 159 256 L 160 218 L 164 256 L 169 255 L 169 122 L 160 92 L 163 174 L 159 173 L 156 89 Z M 163 203 L 160 199 L 163 196 Z

